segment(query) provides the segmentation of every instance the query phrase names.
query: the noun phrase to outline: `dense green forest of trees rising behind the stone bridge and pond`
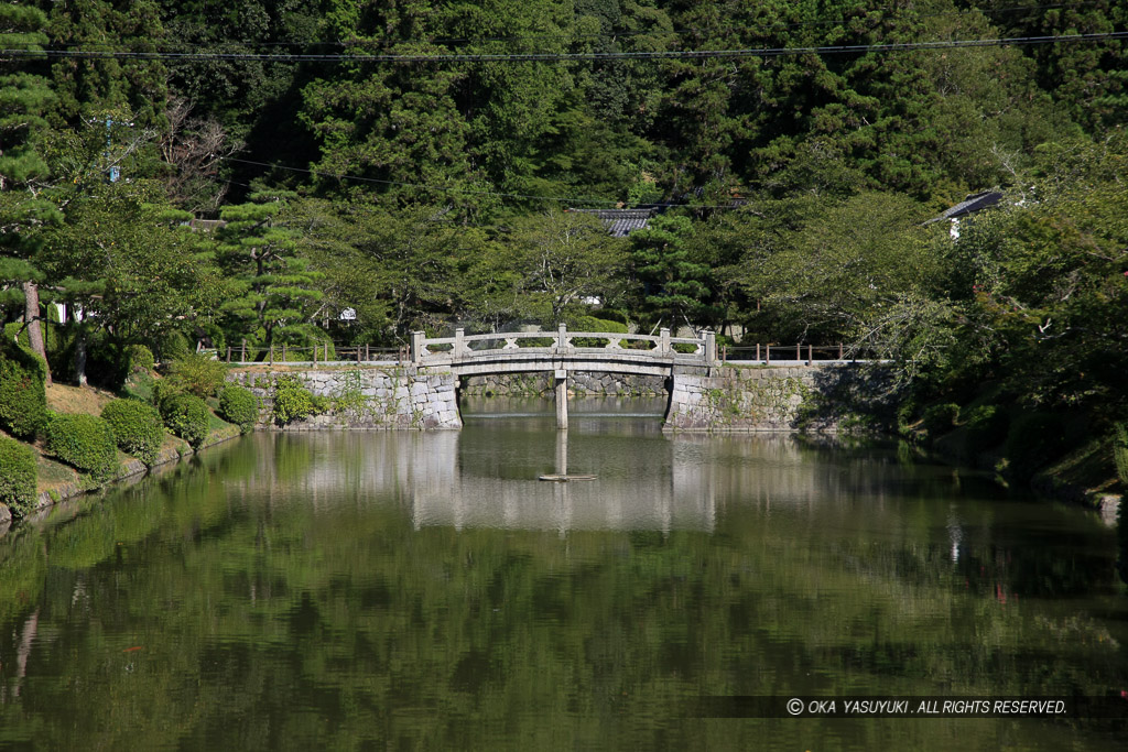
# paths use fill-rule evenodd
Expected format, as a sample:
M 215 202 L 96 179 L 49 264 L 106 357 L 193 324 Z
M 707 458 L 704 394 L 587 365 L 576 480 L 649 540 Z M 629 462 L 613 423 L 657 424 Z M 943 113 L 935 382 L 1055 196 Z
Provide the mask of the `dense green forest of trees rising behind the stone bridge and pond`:
M 133 345 L 592 316 L 845 342 L 901 364 L 906 425 L 1103 434 L 1126 29 L 1120 0 L 2 2 L 0 311 L 103 382 Z M 626 239 L 565 211 L 636 206 Z

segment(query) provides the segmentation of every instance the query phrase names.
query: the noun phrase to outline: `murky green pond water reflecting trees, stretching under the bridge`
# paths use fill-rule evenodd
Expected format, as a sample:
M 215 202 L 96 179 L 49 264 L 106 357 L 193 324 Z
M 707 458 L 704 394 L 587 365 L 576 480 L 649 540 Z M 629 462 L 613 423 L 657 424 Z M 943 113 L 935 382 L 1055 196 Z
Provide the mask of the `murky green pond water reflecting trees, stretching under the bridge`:
M 888 448 L 666 436 L 638 400 L 566 434 L 550 402 L 467 407 L 257 434 L 0 539 L 0 747 L 1118 746 L 1114 720 L 686 717 L 1128 689 L 1094 516 Z M 536 480 L 565 462 L 598 479 Z

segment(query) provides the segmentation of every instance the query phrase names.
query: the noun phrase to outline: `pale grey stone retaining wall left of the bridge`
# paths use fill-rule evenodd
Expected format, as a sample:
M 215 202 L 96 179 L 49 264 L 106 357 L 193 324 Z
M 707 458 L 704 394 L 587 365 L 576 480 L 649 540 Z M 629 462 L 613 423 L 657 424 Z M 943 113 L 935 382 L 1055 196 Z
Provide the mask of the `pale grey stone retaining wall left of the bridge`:
M 274 387 L 280 377 L 296 377 L 315 397 L 328 401 L 328 412 L 282 428 L 460 428 L 452 373 L 409 368 L 247 369 L 231 371 L 228 381 L 253 391 L 263 405 L 259 427 L 271 423 Z

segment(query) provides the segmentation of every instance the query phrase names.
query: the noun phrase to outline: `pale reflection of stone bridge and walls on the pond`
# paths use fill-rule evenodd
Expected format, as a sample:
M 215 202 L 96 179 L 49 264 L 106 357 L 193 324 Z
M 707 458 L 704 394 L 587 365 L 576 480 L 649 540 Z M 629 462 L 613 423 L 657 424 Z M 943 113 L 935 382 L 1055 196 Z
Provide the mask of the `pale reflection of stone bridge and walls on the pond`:
M 245 483 L 256 492 L 270 493 L 274 484 L 305 492 L 315 507 L 327 511 L 341 504 L 402 506 L 416 528 L 564 534 L 712 532 L 726 504 L 827 511 L 838 499 L 869 496 L 884 476 L 843 474 L 826 462 L 812 466 L 805 458 L 811 450 L 788 436 L 668 436 L 655 422 L 652 431 L 636 435 L 573 433 L 570 442 L 567 432 L 544 428 L 543 422 L 530 425 L 501 455 L 475 431 L 282 434 L 261 461 L 273 465 L 274 454 L 289 454 L 289 442 L 301 442 L 307 465 L 289 472 L 264 467 Z M 299 446 L 292 449 L 297 455 Z M 569 470 L 598 479 L 538 481 L 539 475 L 561 469 L 564 452 Z M 880 504 L 880 496 L 873 501 Z

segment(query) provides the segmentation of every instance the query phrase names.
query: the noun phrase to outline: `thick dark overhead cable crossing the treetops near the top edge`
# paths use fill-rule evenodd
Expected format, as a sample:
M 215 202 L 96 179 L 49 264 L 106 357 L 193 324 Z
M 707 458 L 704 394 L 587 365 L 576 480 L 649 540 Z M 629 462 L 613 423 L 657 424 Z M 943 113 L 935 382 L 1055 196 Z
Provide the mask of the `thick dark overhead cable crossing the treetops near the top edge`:
M 0 50 L 0 57 L 54 57 L 71 60 L 153 60 L 153 61 L 261 61 L 328 63 L 484 63 L 484 62 L 585 62 L 598 60 L 708 60 L 729 57 L 783 57 L 790 55 L 840 55 L 911 50 L 952 50 L 958 47 L 1005 47 L 1038 44 L 1075 44 L 1128 39 L 1128 32 L 1017 36 L 996 39 L 948 39 L 943 42 L 901 42 L 889 44 L 848 44 L 817 47 L 749 47 L 742 50 L 669 50 L 659 52 L 576 52 L 576 53 L 496 53 L 496 54 L 310 54 L 250 52 L 135 52 L 106 50 Z

